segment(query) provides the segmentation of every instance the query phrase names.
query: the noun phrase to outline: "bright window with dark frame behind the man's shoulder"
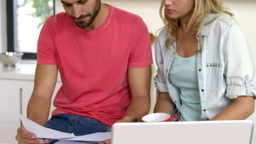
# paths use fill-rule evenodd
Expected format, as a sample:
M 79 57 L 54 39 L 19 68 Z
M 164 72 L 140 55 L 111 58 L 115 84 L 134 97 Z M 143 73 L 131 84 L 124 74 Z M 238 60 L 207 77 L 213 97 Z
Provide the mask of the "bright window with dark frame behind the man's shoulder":
M 36 59 L 37 40 L 45 20 L 54 15 L 54 0 L 6 0 L 8 51 Z

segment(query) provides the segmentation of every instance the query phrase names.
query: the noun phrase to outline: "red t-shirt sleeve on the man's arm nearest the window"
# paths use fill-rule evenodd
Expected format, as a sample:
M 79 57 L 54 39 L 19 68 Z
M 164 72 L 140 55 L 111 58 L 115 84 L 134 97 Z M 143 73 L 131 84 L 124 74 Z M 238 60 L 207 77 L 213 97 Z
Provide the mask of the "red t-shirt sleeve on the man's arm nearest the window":
M 45 21 L 37 43 L 37 63 L 56 65 L 56 46 L 51 33 L 49 19 Z

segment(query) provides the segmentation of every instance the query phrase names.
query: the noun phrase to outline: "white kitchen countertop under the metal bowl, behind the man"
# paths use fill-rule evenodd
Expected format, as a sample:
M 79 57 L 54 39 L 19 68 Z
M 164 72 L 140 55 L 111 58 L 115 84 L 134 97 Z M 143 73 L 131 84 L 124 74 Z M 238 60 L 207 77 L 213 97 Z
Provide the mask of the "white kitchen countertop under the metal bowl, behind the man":
M 0 79 L 34 81 L 36 65 L 35 60 L 22 60 L 16 68 L 3 67 L 3 64 L 0 63 Z M 61 82 L 60 74 L 58 74 L 57 82 Z

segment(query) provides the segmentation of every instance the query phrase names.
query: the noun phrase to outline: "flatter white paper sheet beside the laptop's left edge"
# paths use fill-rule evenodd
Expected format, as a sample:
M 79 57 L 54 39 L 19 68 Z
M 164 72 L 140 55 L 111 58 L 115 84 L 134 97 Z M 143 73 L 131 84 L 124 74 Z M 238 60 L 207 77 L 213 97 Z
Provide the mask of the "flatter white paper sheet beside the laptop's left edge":
M 72 139 L 66 139 L 66 140 L 72 140 L 72 141 L 105 141 L 111 139 L 111 133 L 94 133 L 89 135 L 82 135 L 77 136 Z

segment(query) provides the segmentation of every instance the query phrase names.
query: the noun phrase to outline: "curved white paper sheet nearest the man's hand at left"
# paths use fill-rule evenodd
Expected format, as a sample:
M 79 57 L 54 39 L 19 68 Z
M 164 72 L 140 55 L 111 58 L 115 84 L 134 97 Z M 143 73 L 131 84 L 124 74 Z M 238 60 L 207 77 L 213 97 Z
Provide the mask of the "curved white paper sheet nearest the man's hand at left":
M 63 133 L 61 131 L 45 128 L 42 125 L 39 125 L 25 116 L 20 115 L 20 119 L 26 129 L 26 131 L 35 134 L 38 138 L 45 139 L 69 139 L 75 137 L 75 135 L 69 133 Z

